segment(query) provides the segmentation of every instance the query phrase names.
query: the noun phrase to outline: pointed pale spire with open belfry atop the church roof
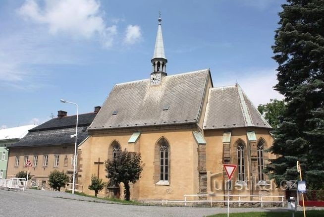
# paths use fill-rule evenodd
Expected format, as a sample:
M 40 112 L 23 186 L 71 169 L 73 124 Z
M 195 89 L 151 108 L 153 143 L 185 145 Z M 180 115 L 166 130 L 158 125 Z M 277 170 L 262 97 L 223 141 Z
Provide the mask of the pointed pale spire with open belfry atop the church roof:
M 151 59 L 153 65 L 153 73 L 154 72 L 166 72 L 166 63 L 167 59 L 164 54 L 164 45 L 163 45 L 163 37 L 162 37 L 162 27 L 161 27 L 161 13 L 159 12 L 159 25 L 158 25 L 158 33 L 157 39 L 155 41 L 155 48 L 153 58 Z M 166 73 L 165 73 L 166 74 Z

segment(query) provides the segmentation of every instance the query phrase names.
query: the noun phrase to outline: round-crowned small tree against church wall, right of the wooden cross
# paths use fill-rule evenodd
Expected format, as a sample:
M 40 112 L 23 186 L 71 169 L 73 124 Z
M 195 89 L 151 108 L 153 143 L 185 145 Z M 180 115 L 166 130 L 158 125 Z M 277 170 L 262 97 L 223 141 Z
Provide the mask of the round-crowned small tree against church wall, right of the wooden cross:
M 141 154 L 135 152 L 117 151 L 116 157 L 105 162 L 106 177 L 113 183 L 124 184 L 124 198 L 129 201 L 129 182 L 135 183 L 140 177 L 144 164 Z

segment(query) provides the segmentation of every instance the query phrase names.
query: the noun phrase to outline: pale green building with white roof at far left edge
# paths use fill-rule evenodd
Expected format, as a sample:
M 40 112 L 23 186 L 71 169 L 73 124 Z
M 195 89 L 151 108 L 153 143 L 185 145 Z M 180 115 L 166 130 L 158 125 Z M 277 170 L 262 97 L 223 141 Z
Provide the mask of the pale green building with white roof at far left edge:
M 7 163 L 8 163 L 8 146 L 18 142 L 23 138 L 29 129 L 37 125 L 25 125 L 19 127 L 12 127 L 0 130 L 0 179 L 7 177 Z

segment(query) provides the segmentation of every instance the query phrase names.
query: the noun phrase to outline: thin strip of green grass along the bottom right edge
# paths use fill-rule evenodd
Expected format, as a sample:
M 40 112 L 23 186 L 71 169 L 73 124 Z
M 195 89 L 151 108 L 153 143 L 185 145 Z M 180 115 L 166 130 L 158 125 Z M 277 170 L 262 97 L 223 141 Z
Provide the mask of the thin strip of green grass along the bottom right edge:
M 291 212 L 251 212 L 251 213 L 229 213 L 230 217 L 291 217 Z M 306 211 L 307 217 L 323 217 L 324 210 Z M 216 214 L 209 217 L 227 217 L 227 214 Z M 304 217 L 302 211 L 296 212 L 295 217 Z

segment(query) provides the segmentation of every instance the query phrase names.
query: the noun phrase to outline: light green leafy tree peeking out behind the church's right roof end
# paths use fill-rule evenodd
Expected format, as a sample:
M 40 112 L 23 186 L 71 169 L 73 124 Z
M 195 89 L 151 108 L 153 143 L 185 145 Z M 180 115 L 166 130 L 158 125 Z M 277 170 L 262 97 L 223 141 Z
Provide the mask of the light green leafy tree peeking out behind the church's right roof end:
M 258 110 L 273 128 L 277 128 L 282 123 L 285 104 L 283 100 L 270 99 L 270 103 L 259 105 Z

